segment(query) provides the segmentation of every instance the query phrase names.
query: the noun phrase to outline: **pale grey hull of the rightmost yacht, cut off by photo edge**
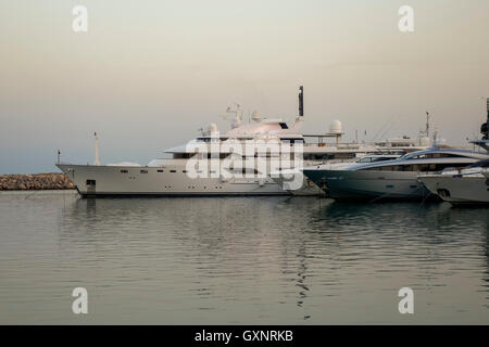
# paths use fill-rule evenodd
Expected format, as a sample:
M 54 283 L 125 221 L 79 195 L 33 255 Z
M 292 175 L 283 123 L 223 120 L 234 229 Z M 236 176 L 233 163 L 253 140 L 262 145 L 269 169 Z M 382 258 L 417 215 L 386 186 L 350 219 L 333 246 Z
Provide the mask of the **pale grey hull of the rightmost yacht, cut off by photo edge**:
M 489 204 L 489 180 L 480 176 L 423 176 L 418 178 L 432 193 L 451 204 Z

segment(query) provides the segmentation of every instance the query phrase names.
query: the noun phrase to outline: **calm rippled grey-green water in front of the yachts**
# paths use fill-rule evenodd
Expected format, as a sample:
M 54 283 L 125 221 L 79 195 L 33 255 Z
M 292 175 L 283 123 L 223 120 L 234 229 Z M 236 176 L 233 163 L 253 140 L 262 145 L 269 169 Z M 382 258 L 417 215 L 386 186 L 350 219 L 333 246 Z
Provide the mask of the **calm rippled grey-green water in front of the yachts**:
M 488 324 L 488 235 L 448 204 L 2 193 L 0 323 Z

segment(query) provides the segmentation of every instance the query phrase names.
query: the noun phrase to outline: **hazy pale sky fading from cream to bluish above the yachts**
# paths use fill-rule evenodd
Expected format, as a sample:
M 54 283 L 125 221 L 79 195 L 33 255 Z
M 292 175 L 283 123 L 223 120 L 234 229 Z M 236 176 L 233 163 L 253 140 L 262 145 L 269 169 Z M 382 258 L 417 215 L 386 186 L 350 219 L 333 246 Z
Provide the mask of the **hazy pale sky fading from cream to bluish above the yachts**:
M 487 0 L 0 0 L 0 174 L 66 162 L 147 164 L 228 105 L 340 119 L 347 137 L 478 134 L 489 97 Z M 88 9 L 74 33 L 72 9 Z M 414 8 L 414 33 L 398 9 Z M 482 98 L 484 97 L 484 98 Z M 388 126 L 390 124 L 390 126 Z

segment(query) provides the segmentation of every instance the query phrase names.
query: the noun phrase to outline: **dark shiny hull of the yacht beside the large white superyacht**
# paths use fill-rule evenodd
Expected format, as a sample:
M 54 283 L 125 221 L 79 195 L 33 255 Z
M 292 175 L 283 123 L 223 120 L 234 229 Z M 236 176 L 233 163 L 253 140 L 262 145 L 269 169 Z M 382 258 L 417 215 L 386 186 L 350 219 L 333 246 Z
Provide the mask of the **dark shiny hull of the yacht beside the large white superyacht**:
M 304 170 L 326 194 L 342 201 L 423 200 L 429 192 L 417 172 L 362 170 Z

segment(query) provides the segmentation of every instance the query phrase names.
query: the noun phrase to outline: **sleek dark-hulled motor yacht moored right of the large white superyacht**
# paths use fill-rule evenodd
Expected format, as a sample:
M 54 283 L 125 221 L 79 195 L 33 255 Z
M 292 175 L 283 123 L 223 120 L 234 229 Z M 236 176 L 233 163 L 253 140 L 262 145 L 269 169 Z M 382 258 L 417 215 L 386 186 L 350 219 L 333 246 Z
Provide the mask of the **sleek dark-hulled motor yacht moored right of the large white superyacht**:
M 336 200 L 419 200 L 429 194 L 419 172 L 462 168 L 487 159 L 487 153 L 432 147 L 376 163 L 354 163 L 341 169 L 309 167 L 303 172 Z

